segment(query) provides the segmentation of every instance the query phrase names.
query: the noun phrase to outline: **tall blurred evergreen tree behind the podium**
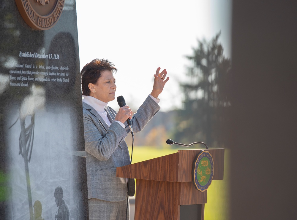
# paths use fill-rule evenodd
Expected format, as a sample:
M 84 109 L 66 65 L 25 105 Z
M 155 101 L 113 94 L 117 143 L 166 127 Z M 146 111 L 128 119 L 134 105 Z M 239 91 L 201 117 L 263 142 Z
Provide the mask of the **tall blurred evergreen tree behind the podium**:
M 225 136 L 231 61 L 223 55 L 222 44 L 218 42 L 220 34 L 209 42 L 198 40 L 193 55 L 186 56 L 192 65 L 187 67 L 186 82 L 180 83 L 184 109 L 178 111 L 176 142 L 203 141 L 218 146 Z

